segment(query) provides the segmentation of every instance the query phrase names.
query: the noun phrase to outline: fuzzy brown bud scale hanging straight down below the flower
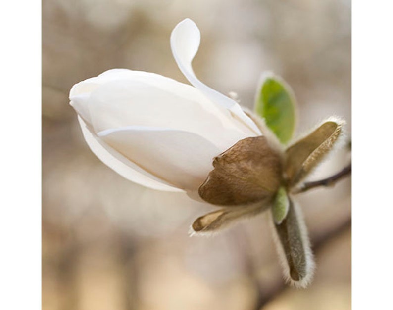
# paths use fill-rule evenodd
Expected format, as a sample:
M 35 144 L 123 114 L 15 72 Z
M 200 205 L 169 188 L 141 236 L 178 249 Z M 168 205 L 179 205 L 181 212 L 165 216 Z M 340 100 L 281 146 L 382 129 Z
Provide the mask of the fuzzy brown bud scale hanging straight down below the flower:
M 314 260 L 300 210 L 291 199 L 287 217 L 281 224 L 274 223 L 274 227 L 286 280 L 295 286 L 306 287 L 313 275 Z

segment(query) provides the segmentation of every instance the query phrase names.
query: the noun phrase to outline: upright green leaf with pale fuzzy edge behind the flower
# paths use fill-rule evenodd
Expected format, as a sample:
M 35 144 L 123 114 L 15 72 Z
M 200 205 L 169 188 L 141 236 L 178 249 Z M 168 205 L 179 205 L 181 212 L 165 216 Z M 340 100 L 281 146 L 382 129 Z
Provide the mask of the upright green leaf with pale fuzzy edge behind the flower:
M 271 72 L 264 73 L 256 94 L 255 112 L 281 143 L 287 144 L 295 131 L 296 100 L 291 87 Z

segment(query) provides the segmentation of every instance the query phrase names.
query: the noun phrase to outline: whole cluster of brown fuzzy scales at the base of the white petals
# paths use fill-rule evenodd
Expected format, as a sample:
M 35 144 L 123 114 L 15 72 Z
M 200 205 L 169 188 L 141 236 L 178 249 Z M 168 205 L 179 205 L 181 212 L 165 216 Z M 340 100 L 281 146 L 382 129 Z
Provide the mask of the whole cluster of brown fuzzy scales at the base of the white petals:
M 266 134 L 240 140 L 215 157 L 214 169 L 200 185 L 199 195 L 224 208 L 196 219 L 194 232 L 217 231 L 271 207 L 285 277 L 295 286 L 306 287 L 314 261 L 301 211 L 289 194 L 331 151 L 342 136 L 343 125 L 343 121 L 331 118 L 285 152 Z

